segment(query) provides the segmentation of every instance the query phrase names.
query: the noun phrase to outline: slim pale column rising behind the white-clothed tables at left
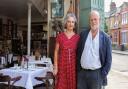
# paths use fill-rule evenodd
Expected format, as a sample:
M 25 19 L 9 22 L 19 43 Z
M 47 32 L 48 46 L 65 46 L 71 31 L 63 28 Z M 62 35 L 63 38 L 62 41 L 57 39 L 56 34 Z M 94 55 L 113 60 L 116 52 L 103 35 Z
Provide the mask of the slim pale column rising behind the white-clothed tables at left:
M 32 6 L 32 3 L 28 2 L 27 55 L 30 55 L 30 52 L 31 52 L 31 6 Z

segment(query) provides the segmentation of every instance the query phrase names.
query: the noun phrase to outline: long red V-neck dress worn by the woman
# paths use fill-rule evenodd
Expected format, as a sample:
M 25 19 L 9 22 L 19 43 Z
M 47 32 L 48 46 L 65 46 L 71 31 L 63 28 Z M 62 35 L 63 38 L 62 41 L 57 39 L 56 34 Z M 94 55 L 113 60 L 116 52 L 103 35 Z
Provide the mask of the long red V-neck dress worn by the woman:
M 76 49 L 79 35 L 70 39 L 60 33 L 56 42 L 59 43 L 58 74 L 55 89 L 76 89 Z

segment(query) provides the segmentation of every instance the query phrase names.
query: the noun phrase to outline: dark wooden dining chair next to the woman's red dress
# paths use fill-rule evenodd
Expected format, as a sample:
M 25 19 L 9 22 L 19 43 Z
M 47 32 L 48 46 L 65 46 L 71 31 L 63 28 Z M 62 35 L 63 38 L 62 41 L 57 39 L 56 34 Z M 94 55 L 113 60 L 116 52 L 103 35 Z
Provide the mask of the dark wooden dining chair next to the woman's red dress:
M 35 77 L 36 80 L 42 81 L 45 84 L 45 89 L 54 89 L 54 75 L 52 72 L 47 72 L 45 77 Z

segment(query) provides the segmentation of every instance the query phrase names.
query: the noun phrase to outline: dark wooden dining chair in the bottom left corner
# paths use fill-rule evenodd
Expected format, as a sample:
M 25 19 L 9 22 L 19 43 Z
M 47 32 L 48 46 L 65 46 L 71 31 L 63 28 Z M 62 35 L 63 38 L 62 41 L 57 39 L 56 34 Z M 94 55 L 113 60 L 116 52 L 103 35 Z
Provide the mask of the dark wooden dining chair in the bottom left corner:
M 11 78 L 9 75 L 0 74 L 0 89 L 13 89 L 14 84 L 21 79 L 21 76 Z M 7 82 L 7 85 L 4 84 Z

